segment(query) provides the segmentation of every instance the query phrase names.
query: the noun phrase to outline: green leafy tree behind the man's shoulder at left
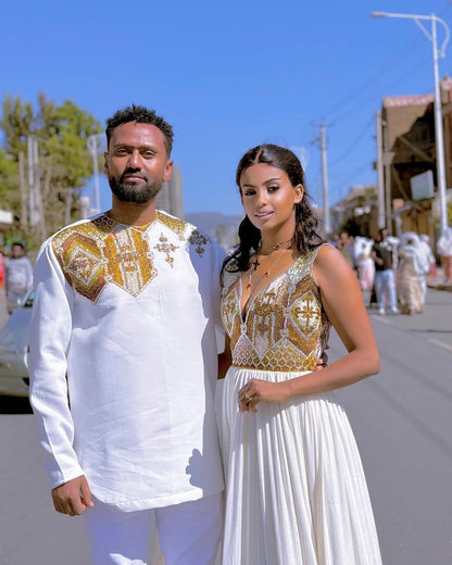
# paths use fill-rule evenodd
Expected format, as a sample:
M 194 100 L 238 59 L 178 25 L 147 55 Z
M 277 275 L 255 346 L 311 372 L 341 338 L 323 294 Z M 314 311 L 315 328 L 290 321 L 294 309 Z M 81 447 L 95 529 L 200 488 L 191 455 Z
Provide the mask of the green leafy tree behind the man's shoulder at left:
M 36 139 L 39 166 L 34 173 L 39 180 L 42 208 L 39 210 L 39 225 L 30 226 L 26 235 L 39 243 L 39 240 L 62 227 L 67 215 L 70 218 L 79 215 L 78 200 L 92 175 L 87 140 L 90 135 L 100 134 L 102 128 L 98 120 L 73 101 L 65 100 L 58 105 L 47 100 L 43 93 L 38 97 L 36 110 L 32 103 L 23 102 L 21 97 L 7 97 L 3 100 L 1 127 L 4 152 L 9 159 L 2 160 L 0 153 L 0 190 L 9 184 L 5 201 L 18 222 L 23 221 L 21 216 L 24 214 L 21 199 L 16 197 L 20 193 L 18 163 L 22 153 L 25 167 L 32 164 L 27 139 L 29 136 Z M 7 162 L 14 163 L 14 178 Z M 1 179 L 7 175 L 9 180 L 2 185 Z

